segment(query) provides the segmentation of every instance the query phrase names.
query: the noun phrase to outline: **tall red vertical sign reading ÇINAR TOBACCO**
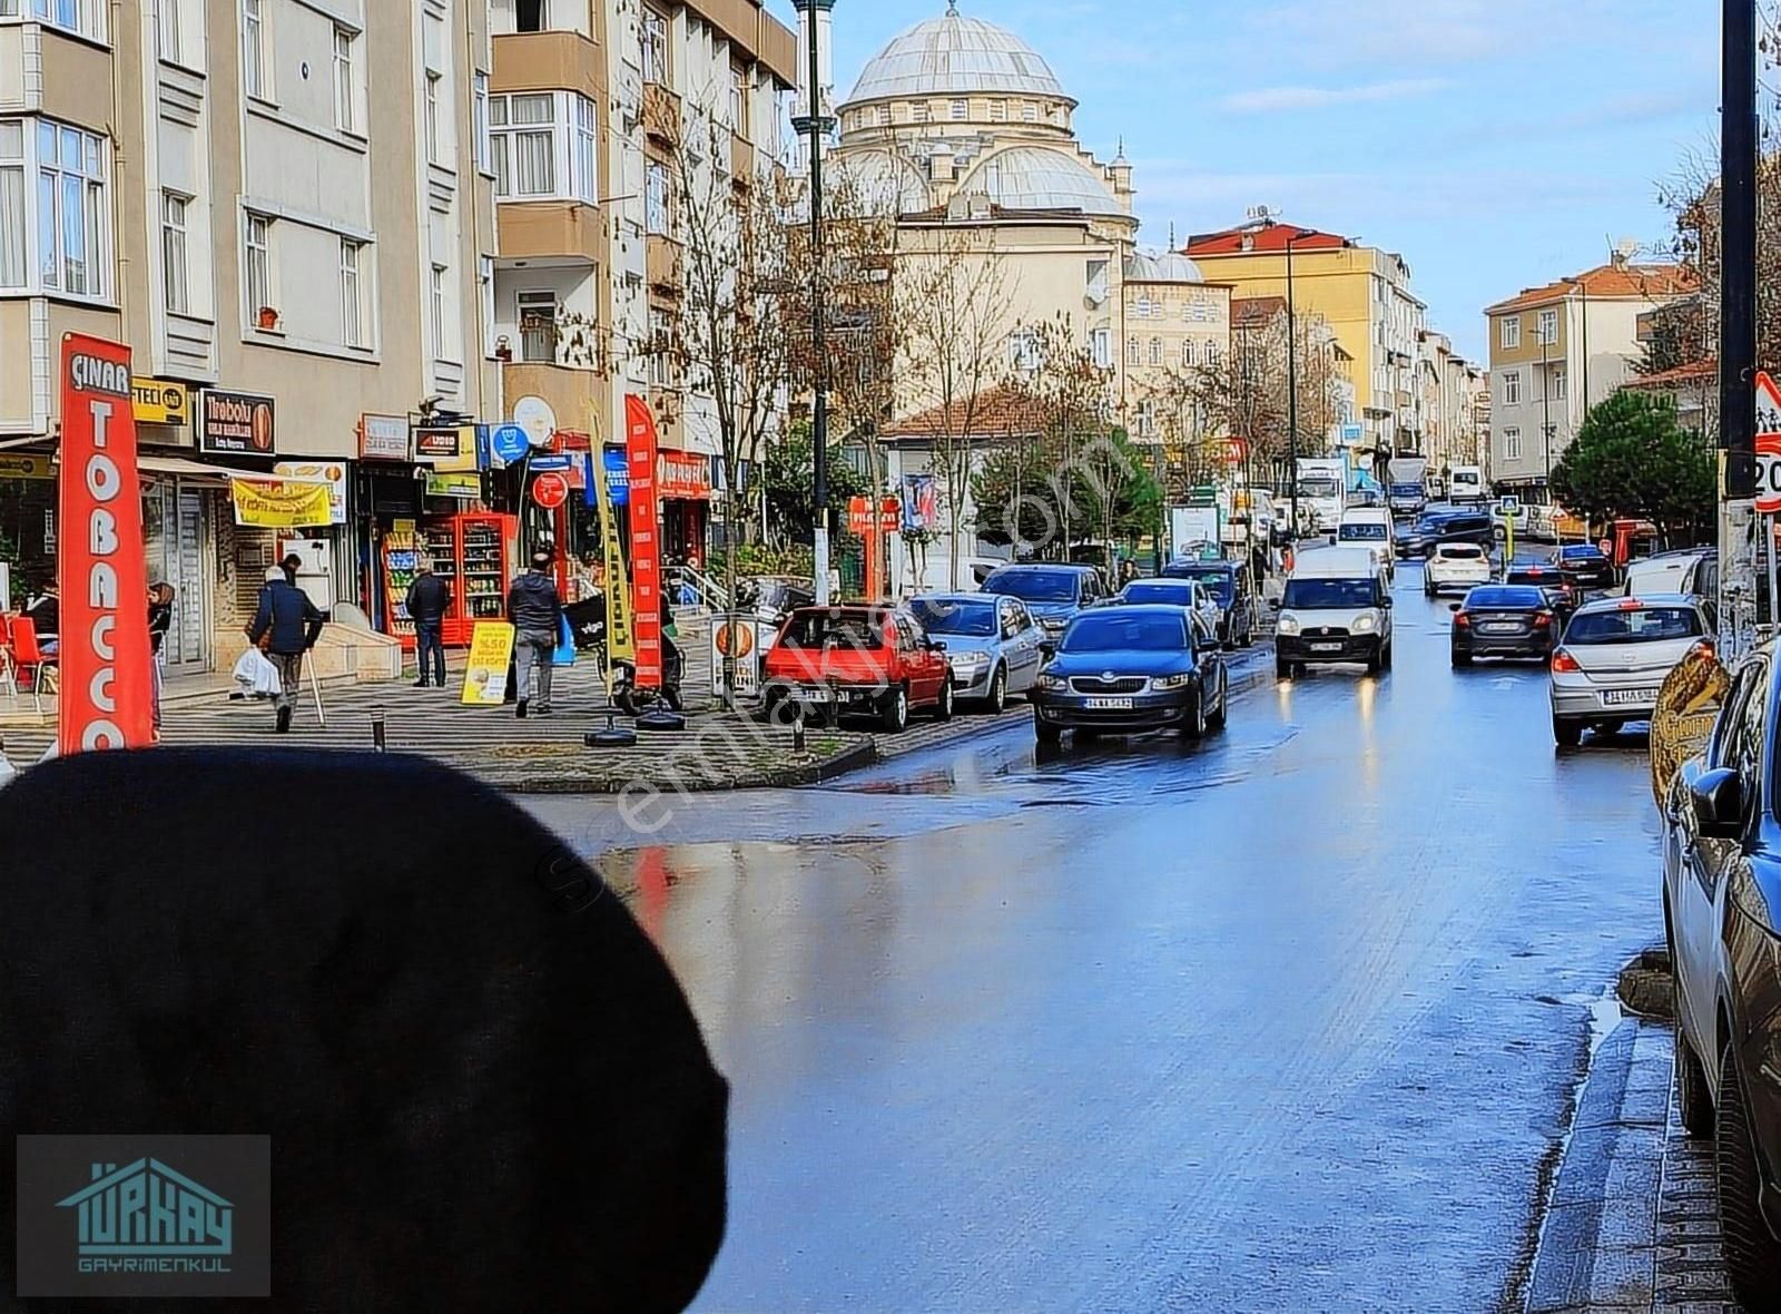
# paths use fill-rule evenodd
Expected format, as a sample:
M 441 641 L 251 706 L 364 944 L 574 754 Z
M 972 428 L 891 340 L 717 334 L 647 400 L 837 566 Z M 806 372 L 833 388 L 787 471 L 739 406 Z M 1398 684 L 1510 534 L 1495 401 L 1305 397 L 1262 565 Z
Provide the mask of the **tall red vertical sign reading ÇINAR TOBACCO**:
M 155 741 L 130 347 L 62 335 L 61 751 Z

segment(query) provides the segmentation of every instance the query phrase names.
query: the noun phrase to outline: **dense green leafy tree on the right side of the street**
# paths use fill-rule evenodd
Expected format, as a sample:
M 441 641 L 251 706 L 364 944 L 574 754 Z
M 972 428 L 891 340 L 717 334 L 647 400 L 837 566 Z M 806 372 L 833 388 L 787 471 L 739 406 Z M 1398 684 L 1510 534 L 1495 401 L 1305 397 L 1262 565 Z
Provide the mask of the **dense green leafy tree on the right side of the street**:
M 1713 525 L 1713 443 L 1683 429 L 1671 397 L 1617 392 L 1590 408 L 1551 486 L 1590 522 L 1651 520 L 1667 538 L 1697 539 Z

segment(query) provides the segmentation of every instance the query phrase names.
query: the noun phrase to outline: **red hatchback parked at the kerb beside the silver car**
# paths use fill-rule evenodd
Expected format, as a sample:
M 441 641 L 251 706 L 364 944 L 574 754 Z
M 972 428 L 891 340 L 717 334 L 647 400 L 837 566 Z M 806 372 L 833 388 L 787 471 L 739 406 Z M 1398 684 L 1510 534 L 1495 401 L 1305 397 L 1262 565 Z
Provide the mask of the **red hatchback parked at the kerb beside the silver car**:
M 912 709 L 953 714 L 946 648 L 914 616 L 892 607 L 800 607 L 780 627 L 760 673 L 768 716 L 801 707 L 810 721 L 864 712 L 885 730 L 908 725 Z

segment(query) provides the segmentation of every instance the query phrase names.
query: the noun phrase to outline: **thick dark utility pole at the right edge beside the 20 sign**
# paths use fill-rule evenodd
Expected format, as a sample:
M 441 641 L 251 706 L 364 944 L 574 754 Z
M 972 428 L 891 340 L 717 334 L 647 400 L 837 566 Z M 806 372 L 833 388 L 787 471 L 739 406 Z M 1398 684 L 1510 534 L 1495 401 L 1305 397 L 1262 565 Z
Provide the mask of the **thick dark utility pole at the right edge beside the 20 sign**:
M 1719 442 L 1724 449 L 1719 559 L 1724 648 L 1756 627 L 1756 4 L 1722 0 Z M 1772 550 L 1772 547 L 1770 547 Z M 1774 598 L 1769 602 L 1774 620 Z

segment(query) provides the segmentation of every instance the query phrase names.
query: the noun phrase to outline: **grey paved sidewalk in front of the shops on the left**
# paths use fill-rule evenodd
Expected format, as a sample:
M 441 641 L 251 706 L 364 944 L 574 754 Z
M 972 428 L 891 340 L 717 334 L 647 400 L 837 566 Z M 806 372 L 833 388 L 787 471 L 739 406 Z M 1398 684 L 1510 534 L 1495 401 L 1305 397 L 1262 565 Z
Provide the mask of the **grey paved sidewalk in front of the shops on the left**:
M 1231 691 L 1273 678 L 1272 650 L 1257 645 L 1232 655 Z M 639 735 L 636 748 L 588 748 L 582 735 L 606 725 L 606 689 L 593 664 L 559 669 L 554 714 L 516 719 L 513 707 L 463 707 L 459 682 L 415 689 L 406 682 L 354 684 L 322 689 L 326 725 L 315 698 L 303 691 L 290 734 L 272 734 L 272 709 L 264 702 L 230 702 L 226 694 L 182 698 L 162 709 L 162 741 L 178 746 L 228 744 L 264 750 L 370 751 L 372 723 L 385 723 L 392 753 L 422 753 L 516 794 L 702 792 L 807 785 L 830 780 L 887 757 L 901 757 L 1026 723 L 1031 710 L 1013 703 L 1001 716 L 962 710 L 939 723 L 917 714 L 901 735 L 874 734 L 871 721 L 809 726 L 800 757 L 787 726 L 773 726 L 727 710 L 695 712 L 684 734 Z M 620 725 L 627 725 L 620 718 Z M 0 732 L 7 757 L 23 769 L 53 742 L 55 728 L 9 726 Z

